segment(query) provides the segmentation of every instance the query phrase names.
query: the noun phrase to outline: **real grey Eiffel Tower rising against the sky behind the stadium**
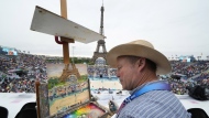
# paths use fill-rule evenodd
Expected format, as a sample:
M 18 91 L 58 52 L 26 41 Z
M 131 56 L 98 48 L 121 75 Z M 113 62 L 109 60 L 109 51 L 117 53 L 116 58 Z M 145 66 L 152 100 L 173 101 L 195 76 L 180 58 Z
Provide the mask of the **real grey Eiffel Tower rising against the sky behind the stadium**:
M 105 8 L 103 8 L 103 3 L 102 3 L 102 7 L 101 7 L 101 22 L 100 22 L 100 34 L 101 35 L 103 35 L 103 11 L 105 11 Z M 102 47 L 102 52 L 99 52 L 100 47 Z M 94 52 L 94 56 L 91 58 L 91 62 L 95 63 L 95 61 L 98 57 L 103 57 L 107 61 L 107 50 L 106 50 L 106 41 L 105 41 L 105 39 L 99 40 L 97 42 L 97 49 L 96 49 L 96 52 Z

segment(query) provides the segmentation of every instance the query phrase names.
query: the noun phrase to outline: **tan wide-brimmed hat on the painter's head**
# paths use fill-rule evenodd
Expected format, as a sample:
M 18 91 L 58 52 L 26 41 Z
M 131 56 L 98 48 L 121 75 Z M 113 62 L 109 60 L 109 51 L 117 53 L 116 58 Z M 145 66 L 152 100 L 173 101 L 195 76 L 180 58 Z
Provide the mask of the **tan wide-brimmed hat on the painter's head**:
M 165 55 L 144 40 L 136 40 L 111 49 L 107 55 L 108 64 L 117 67 L 117 57 L 121 55 L 140 56 L 153 61 L 157 66 L 156 74 L 158 75 L 168 74 L 172 71 L 172 66 Z

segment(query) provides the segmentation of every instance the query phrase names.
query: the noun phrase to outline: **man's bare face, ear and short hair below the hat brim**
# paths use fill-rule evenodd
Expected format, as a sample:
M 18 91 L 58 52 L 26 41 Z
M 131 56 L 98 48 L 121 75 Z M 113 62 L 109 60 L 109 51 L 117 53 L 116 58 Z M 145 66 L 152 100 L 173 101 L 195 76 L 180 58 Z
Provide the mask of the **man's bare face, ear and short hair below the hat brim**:
M 123 89 L 132 90 L 146 82 L 156 79 L 156 64 L 144 57 L 119 56 L 117 68 L 117 76 Z

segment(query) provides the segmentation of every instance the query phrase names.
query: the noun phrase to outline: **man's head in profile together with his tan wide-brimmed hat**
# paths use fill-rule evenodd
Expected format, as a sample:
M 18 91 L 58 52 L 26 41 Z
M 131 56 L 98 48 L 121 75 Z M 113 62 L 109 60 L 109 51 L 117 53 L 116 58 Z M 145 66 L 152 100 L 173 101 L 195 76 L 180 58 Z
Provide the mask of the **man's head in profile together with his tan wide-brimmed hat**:
M 113 47 L 107 58 L 110 66 L 118 68 L 117 76 L 128 90 L 156 79 L 156 74 L 170 72 L 167 58 L 143 40 Z

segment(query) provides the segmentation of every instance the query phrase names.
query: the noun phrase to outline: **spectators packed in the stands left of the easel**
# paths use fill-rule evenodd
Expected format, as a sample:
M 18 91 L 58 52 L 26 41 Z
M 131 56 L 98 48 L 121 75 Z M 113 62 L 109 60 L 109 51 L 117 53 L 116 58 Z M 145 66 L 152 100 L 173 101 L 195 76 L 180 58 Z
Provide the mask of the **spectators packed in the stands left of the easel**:
M 44 56 L 19 53 L 16 56 L 0 56 L 0 92 L 34 93 L 34 82 L 44 81 Z

